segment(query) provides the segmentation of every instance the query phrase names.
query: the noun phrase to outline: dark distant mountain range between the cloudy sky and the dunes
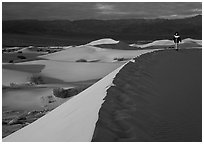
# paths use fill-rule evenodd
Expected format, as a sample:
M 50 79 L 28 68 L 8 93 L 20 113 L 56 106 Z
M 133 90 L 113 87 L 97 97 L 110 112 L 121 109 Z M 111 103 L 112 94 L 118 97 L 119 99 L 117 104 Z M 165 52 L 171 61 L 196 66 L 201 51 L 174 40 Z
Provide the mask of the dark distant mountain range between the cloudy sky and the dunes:
M 10 42 L 10 38 L 6 37 L 8 35 L 35 36 L 35 38 L 39 36 L 43 39 L 52 37 L 48 39 L 48 44 L 55 38 L 86 39 L 87 42 L 104 37 L 125 42 L 171 39 L 175 31 L 179 31 L 182 38 L 202 39 L 202 16 L 172 20 L 12 20 L 2 22 L 2 31 L 3 45 L 4 42 L 7 42 L 5 45 Z M 32 38 L 29 41 L 32 41 Z

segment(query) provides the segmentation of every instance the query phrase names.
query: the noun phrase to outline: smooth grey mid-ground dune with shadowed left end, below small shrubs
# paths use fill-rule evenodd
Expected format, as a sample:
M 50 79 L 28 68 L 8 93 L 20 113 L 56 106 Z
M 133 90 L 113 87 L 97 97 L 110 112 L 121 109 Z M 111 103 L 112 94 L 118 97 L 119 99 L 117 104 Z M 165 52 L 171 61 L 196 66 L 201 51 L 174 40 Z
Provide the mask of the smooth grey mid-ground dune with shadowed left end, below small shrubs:
M 32 76 L 42 76 L 45 81 L 78 82 L 103 78 L 124 62 L 84 63 L 37 60 L 17 64 L 4 64 L 3 85 L 29 82 Z M 47 79 L 48 78 L 48 79 Z M 51 81 L 49 80 L 51 78 Z M 52 82 L 53 81 L 53 82 Z

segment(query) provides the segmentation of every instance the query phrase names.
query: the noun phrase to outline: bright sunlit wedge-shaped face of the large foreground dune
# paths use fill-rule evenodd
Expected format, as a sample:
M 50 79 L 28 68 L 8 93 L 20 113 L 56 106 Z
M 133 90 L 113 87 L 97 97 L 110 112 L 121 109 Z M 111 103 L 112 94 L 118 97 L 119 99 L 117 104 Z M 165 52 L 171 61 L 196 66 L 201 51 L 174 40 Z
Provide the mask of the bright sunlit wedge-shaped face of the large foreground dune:
M 123 63 L 85 91 L 3 141 L 91 141 L 106 90 L 112 86 L 113 78 L 127 63 Z

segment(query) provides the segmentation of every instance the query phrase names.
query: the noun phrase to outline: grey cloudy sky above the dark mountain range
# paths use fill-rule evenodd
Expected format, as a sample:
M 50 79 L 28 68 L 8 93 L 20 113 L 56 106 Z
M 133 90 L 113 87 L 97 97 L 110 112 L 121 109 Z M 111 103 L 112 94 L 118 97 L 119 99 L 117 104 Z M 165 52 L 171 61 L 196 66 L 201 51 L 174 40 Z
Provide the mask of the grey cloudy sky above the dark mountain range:
M 202 13 L 201 2 L 3 2 L 3 20 L 184 18 Z

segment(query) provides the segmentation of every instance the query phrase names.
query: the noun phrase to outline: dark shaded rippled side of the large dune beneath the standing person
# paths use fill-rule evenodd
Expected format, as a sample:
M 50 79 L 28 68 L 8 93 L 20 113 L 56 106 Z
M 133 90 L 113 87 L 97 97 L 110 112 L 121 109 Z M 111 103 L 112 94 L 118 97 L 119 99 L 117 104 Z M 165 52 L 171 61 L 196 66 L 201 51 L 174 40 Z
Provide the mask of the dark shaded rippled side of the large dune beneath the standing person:
M 92 141 L 202 141 L 201 49 L 142 55 L 114 84 Z

